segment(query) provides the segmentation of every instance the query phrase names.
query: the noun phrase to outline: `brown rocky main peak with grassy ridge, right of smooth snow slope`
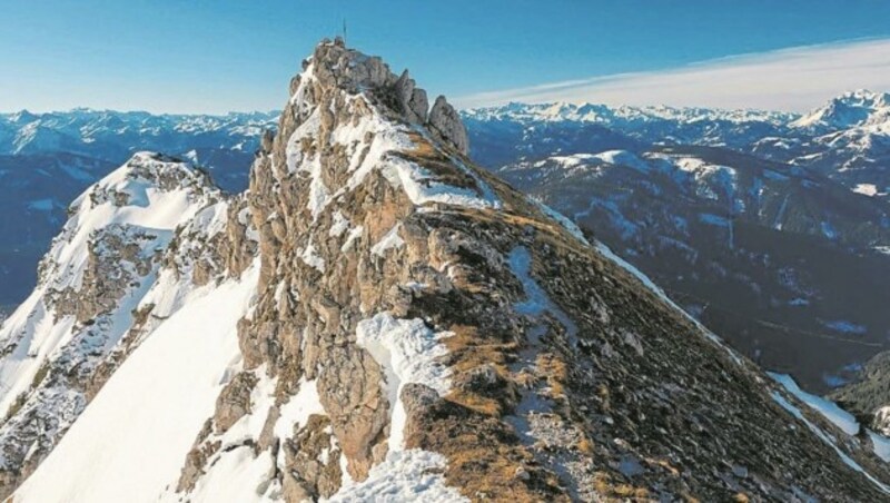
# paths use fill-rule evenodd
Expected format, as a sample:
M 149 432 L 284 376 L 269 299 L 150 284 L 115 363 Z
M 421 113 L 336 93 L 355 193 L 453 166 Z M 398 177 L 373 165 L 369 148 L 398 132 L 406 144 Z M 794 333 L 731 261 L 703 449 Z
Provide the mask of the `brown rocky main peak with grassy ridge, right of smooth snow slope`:
M 455 110 L 427 112 L 407 71 L 325 41 L 290 92 L 251 170 L 260 283 L 238 327 L 275 401 L 189 458 L 263 424 L 260 486 L 286 501 L 368 497 L 409 453 L 438 460 L 423 471 L 446 500 L 880 491 L 635 270 L 472 166 Z

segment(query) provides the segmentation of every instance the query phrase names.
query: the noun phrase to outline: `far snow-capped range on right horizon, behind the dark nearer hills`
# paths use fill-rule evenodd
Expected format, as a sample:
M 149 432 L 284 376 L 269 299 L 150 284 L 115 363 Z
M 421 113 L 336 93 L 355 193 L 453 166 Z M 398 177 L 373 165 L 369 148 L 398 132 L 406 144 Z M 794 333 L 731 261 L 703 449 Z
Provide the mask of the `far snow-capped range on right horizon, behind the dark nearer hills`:
M 859 90 L 807 115 L 702 108 L 522 105 L 464 111 L 490 166 L 649 146 L 730 148 L 827 176 L 880 198 L 890 188 L 890 95 Z

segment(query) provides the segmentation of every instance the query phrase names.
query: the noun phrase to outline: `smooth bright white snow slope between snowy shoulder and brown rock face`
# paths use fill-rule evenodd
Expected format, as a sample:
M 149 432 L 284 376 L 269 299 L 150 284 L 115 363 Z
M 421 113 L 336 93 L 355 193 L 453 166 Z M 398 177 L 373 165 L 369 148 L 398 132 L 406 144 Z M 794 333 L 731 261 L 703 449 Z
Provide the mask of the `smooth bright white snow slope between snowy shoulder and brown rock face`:
M 16 502 L 174 501 L 179 471 L 229 373 L 259 267 L 191 294 L 115 373 Z

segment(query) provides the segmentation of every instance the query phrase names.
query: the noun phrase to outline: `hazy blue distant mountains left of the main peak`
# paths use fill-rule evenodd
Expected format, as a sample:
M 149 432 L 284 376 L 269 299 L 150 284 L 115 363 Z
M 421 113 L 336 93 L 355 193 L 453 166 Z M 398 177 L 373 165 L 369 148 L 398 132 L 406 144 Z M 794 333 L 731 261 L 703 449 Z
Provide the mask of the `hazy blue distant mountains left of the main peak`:
M 0 310 L 33 288 L 37 260 L 65 223 L 70 201 L 134 152 L 187 158 L 224 189 L 240 191 L 260 134 L 277 121 L 278 112 L 0 114 Z

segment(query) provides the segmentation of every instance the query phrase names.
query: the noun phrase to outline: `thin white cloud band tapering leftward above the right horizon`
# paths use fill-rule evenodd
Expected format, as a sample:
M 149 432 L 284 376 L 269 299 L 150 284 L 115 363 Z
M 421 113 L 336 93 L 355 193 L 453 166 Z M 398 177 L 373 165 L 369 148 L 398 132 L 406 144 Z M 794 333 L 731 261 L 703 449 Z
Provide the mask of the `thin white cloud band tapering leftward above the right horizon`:
M 664 71 L 483 92 L 454 101 L 463 108 L 568 101 L 805 111 L 853 89 L 890 90 L 890 39 L 734 56 Z

